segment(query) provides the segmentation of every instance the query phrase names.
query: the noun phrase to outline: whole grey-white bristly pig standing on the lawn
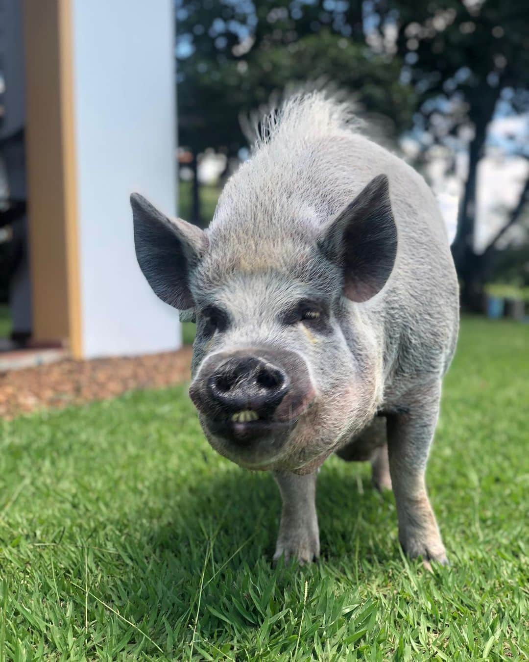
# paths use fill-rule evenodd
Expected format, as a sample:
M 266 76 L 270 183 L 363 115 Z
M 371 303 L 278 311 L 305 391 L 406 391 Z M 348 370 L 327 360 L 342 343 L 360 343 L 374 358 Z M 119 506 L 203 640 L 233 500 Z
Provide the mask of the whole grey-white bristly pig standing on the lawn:
M 405 552 L 447 563 L 425 468 L 458 281 L 423 177 L 318 91 L 263 120 L 207 230 L 131 203 L 143 274 L 196 321 L 189 393 L 208 442 L 278 484 L 274 560 L 319 557 L 316 477 L 337 453 L 392 487 Z

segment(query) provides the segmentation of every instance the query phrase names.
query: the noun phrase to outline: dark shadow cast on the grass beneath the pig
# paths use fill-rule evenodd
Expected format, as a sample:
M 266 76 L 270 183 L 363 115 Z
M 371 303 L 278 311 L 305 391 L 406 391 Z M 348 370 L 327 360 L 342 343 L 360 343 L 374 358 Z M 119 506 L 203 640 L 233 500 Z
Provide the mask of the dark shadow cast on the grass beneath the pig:
M 368 477 L 360 479 L 366 471 L 358 465 L 339 463 L 331 461 L 319 475 L 321 559 L 303 569 L 295 562 L 272 567 L 281 504 L 271 475 L 235 468 L 197 481 L 185 495 L 171 488 L 169 521 L 145 532 L 145 553 L 157 559 L 145 568 L 146 606 L 157 606 L 147 589 L 157 583 L 165 587 L 172 616 L 184 618 L 182 610 L 196 604 L 198 594 L 202 610 L 218 610 L 247 595 L 248 583 L 286 591 L 307 575 L 332 574 L 354 585 L 388 561 L 400 563 L 393 497 L 376 492 Z

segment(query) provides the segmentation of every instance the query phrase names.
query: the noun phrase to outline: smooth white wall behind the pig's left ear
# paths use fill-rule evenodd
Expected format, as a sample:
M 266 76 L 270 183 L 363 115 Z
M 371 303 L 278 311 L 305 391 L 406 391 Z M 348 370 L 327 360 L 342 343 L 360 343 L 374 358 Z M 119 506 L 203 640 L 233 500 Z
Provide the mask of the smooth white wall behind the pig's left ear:
M 178 313 L 134 254 L 129 196 L 175 214 L 172 0 L 73 0 L 73 77 L 83 350 L 181 344 Z

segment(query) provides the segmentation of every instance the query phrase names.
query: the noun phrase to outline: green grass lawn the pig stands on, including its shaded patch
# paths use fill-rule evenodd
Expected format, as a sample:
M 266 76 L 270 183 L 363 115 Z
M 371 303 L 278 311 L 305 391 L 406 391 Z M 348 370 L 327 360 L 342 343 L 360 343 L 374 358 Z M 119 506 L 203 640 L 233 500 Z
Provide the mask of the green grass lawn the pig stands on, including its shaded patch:
M 368 466 L 337 458 L 323 558 L 272 569 L 272 478 L 210 449 L 185 387 L 1 424 L 0 660 L 527 659 L 528 341 L 464 320 L 428 467 L 452 561 L 434 574 Z

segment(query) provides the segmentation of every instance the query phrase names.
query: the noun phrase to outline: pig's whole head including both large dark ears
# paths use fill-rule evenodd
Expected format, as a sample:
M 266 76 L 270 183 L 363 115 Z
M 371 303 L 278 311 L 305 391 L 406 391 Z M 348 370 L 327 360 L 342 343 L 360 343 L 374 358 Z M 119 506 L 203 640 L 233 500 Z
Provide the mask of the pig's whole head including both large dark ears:
M 251 469 L 313 471 L 374 414 L 375 343 L 357 327 L 354 349 L 350 301 L 376 294 L 393 267 L 386 178 L 323 227 L 292 218 L 272 241 L 237 236 L 229 218 L 206 235 L 138 197 L 133 209 L 143 273 L 194 311 L 190 397 L 210 444 Z

